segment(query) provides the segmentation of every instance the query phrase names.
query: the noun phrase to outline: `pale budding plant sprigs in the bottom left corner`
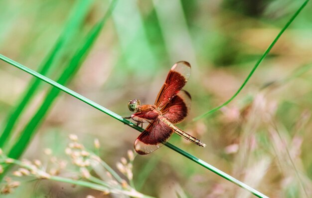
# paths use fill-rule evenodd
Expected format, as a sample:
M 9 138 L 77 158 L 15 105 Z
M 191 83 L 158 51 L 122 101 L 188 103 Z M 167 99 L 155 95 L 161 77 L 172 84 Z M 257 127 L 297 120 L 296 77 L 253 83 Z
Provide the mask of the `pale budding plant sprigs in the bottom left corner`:
M 137 192 L 133 185 L 129 185 L 99 156 L 79 143 L 76 135 L 71 134 L 69 139 L 68 147 L 64 151 L 70 157 L 70 161 L 58 159 L 53 156 L 51 149 L 46 148 L 44 153 L 50 158 L 49 164 L 43 165 L 39 160 L 31 162 L 26 159 L 9 158 L 3 154 L 2 150 L 0 150 L 0 164 L 16 165 L 18 169 L 12 173 L 13 177 L 30 177 L 38 180 L 68 183 L 101 191 L 105 195 L 116 194 L 133 198 L 152 198 Z M 97 150 L 100 148 L 97 140 L 95 140 L 94 146 Z M 118 170 L 126 176 L 130 184 L 133 183 L 132 163 L 134 157 L 133 151 L 129 150 L 128 160 L 123 157 L 121 162 L 117 163 Z M 70 163 L 72 166 L 68 165 Z M 0 170 L 3 171 L 2 166 L 0 166 Z M 1 194 L 11 193 L 19 184 L 11 178 L 5 178 L 5 183 L 1 187 Z

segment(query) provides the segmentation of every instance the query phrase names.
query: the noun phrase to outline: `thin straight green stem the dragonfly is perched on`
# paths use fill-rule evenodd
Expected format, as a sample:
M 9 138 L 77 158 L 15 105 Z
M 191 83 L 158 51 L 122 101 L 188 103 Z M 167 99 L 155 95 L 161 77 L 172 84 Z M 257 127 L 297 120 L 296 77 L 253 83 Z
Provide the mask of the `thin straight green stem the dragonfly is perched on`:
M 35 77 L 37 77 L 37 78 L 39 78 L 39 79 L 41 79 L 41 80 L 43 80 L 43 81 L 45 81 L 47 83 L 49 83 L 50 85 L 53 85 L 54 87 L 56 87 L 56 88 L 58 88 L 58 89 L 60 89 L 60 90 L 62 90 L 64 92 L 68 93 L 69 95 L 74 96 L 75 98 L 77 98 L 77 99 L 79 99 L 79 100 L 89 104 L 90 106 L 92 106 L 92 107 L 102 111 L 103 113 L 106 113 L 107 115 L 109 115 L 109 116 L 111 116 L 111 117 L 113 117 L 113 118 L 123 122 L 124 124 L 127 124 L 130 127 L 134 128 L 134 129 L 136 129 L 136 130 L 138 130 L 140 132 L 144 131 L 143 128 L 137 126 L 136 124 L 130 122 L 129 120 L 126 120 L 126 119 L 122 118 L 120 115 L 110 111 L 109 109 L 106 109 L 105 107 L 102 107 L 101 105 L 93 102 L 92 100 L 90 100 L 90 99 L 88 99 L 88 98 L 86 98 L 86 97 L 84 97 L 84 96 L 82 96 L 82 95 L 72 91 L 71 89 L 68 89 L 67 87 L 65 87 L 65 86 L 63 86 L 63 85 L 61 85 L 61 84 L 59 84 L 59 83 L 57 83 L 57 82 L 55 82 L 55 81 L 53 81 L 53 80 L 43 76 L 43 75 L 41 75 L 41 74 L 39 74 L 39 73 L 37 73 L 37 72 L 27 68 L 27 67 L 25 67 L 25 66 L 15 62 L 15 61 L 13 61 L 13 60 L 3 56 L 2 54 L 0 54 L 0 59 L 2 59 L 3 61 L 5 61 L 5 62 L 7 62 L 7 63 L 9 63 L 9 64 L 11 64 L 11 65 L 21 69 L 21 70 L 23 70 L 23 71 L 25 71 L 25 72 L 35 76 Z M 255 195 L 255 196 L 259 197 L 259 198 L 268 198 L 267 196 L 263 195 L 262 193 L 258 192 L 257 190 L 255 190 L 255 189 L 249 187 L 248 185 L 246 185 L 246 184 L 236 180 L 235 178 L 233 178 L 233 177 L 229 176 L 228 174 L 220 171 L 219 169 L 209 165 L 208 163 L 206 163 L 206 162 L 196 158 L 195 156 L 193 156 L 193 155 L 191 155 L 191 154 L 189 154 L 189 153 L 187 153 L 187 152 L 177 148 L 176 146 L 174 146 L 174 145 L 172 145 L 170 143 L 166 143 L 165 146 L 167 146 L 170 149 L 172 149 L 173 151 L 175 151 L 175 152 L 177 152 L 177 153 L 187 157 L 188 159 L 192 160 L 193 162 L 203 166 L 204 168 L 212 171 L 213 173 L 223 177 L 224 179 L 226 179 L 226 180 L 236 184 L 237 186 L 239 186 L 239 187 L 249 191 L 253 195 Z

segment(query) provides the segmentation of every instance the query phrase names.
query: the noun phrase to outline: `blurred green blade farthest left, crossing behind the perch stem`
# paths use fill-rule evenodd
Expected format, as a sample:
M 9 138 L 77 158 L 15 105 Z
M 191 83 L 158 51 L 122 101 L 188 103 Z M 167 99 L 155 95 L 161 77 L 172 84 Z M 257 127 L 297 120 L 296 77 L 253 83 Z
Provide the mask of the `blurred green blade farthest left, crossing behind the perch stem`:
M 91 0 L 77 1 L 77 4 L 73 8 L 63 32 L 59 36 L 50 53 L 46 56 L 42 64 L 39 66 L 39 73 L 45 75 L 49 71 L 52 63 L 60 54 L 61 49 L 66 45 L 67 40 L 69 40 L 72 35 L 76 31 L 78 31 L 78 28 L 84 21 L 84 18 L 88 13 L 91 4 Z M 21 97 L 20 103 L 14 108 L 12 113 L 7 118 L 6 126 L 0 136 L 0 148 L 3 148 L 4 144 L 8 142 L 7 139 L 11 135 L 12 129 L 16 121 L 18 121 L 22 111 L 27 106 L 31 98 L 34 96 L 40 82 L 41 80 L 38 78 L 34 78 L 30 82 L 29 86 L 26 88 L 24 95 Z

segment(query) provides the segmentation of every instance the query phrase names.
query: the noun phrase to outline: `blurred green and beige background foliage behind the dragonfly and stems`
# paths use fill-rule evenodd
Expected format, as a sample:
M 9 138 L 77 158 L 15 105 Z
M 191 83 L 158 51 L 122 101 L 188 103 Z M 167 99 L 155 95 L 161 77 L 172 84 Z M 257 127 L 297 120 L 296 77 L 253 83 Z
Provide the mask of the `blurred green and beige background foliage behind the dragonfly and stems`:
M 79 0 L 0 1 L 0 53 L 35 70 L 49 57 L 66 29 L 66 44 L 45 75 L 53 80 L 68 67 L 87 32 L 104 16 L 110 1 L 86 1 L 79 23 L 68 25 Z M 85 60 L 64 83 L 121 116 L 127 103 L 153 104 L 170 67 L 190 62 L 185 86 L 190 115 L 178 127 L 204 142 L 200 148 L 177 135 L 170 143 L 273 198 L 312 196 L 312 12 L 311 3 L 295 19 L 260 64 L 242 92 L 226 107 L 193 118 L 228 100 L 301 6 L 292 0 L 129 0 L 112 16 Z M 0 61 L 0 134 L 25 98 L 33 77 Z M 86 147 L 100 140 L 100 157 L 112 168 L 139 132 L 85 103 L 60 93 L 44 106 L 51 86 L 41 83 L 16 120 L 8 151 L 38 109 L 30 144 L 22 158 L 44 159 L 50 148 L 65 158 L 67 136 Z M 43 104 L 43 105 L 42 105 Z M 249 198 L 253 195 L 167 147 L 134 161 L 136 189 L 171 198 Z M 86 188 L 24 180 L 8 198 L 105 197 Z M 108 195 L 107 197 L 114 197 Z M 118 197 L 118 196 L 115 196 Z

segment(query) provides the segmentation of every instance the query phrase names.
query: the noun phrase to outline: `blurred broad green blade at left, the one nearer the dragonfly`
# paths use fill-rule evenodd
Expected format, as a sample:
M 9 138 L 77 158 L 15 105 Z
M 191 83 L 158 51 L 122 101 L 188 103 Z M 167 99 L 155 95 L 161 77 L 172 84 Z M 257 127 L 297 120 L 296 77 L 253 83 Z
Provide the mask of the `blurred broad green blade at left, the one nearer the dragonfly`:
M 109 18 L 109 16 L 112 13 L 112 10 L 114 9 L 116 5 L 117 0 L 113 0 L 107 13 L 105 16 L 90 30 L 88 33 L 86 39 L 84 42 L 82 42 L 82 46 L 80 49 L 78 49 L 77 53 L 74 54 L 73 58 L 71 59 L 68 67 L 65 69 L 65 71 L 62 73 L 62 75 L 59 77 L 57 82 L 59 84 L 66 84 L 69 79 L 76 73 L 76 71 L 79 69 L 80 65 L 84 61 L 86 55 L 88 54 L 89 50 L 91 49 L 91 46 L 95 42 L 96 38 L 98 37 L 102 27 L 104 26 L 105 22 Z M 15 143 L 15 145 L 12 147 L 10 152 L 8 153 L 8 157 L 10 158 L 19 158 L 23 151 L 26 149 L 31 137 L 33 136 L 36 128 L 40 126 L 40 123 L 43 121 L 44 116 L 46 115 L 47 111 L 51 107 L 51 104 L 55 100 L 55 98 L 58 96 L 60 90 L 57 88 L 52 88 L 50 92 L 47 94 L 45 100 L 43 101 L 41 107 L 37 111 L 37 113 L 32 117 L 30 122 L 26 125 L 24 130 L 21 133 L 20 138 Z

